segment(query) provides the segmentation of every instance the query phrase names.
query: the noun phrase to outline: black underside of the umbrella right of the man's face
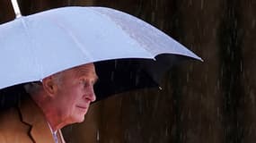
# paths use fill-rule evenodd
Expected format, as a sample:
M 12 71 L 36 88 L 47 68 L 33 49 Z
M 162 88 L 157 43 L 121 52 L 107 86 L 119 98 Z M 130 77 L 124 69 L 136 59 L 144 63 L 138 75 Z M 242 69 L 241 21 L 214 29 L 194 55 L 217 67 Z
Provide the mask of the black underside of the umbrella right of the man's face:
M 181 55 L 158 55 L 156 60 L 119 59 L 94 63 L 100 77 L 94 86 L 97 101 L 137 88 L 161 88 L 161 80 L 172 65 L 190 58 Z

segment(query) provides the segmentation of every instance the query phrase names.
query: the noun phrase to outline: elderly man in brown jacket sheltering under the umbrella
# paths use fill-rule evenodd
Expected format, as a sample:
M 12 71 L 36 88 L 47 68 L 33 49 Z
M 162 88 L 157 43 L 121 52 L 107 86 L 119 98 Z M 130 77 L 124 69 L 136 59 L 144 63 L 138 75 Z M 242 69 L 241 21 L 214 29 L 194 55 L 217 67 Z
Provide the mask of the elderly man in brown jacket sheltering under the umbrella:
M 0 113 L 0 142 L 65 142 L 60 129 L 84 121 L 95 100 L 96 80 L 94 65 L 88 63 L 27 84 L 30 96 Z

